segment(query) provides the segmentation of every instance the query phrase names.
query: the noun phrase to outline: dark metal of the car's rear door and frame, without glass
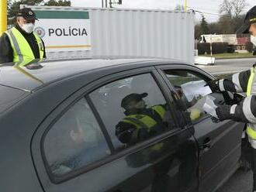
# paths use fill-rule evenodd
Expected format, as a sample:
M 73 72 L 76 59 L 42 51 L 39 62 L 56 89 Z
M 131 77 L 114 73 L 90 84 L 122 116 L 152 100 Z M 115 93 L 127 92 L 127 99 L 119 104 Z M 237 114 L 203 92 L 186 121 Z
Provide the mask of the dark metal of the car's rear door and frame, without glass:
M 95 88 L 101 84 L 106 84 L 107 82 L 124 77 L 124 75 L 129 77 L 130 75 L 143 74 L 152 72 L 153 70 L 154 67 L 135 68 L 133 70 L 119 72 L 118 74 L 111 74 L 109 77 L 103 77 L 98 81 L 93 81 L 92 84 L 88 84 L 88 86 L 81 88 L 81 90 L 70 98 L 67 98 L 67 101 L 54 110 L 49 118 L 43 122 L 33 139 L 33 156 L 44 190 L 50 192 L 60 190 L 151 191 L 153 189 L 156 190 L 156 187 L 162 187 L 162 191 L 177 191 L 179 187 L 186 187 L 188 191 L 196 191 L 198 187 L 198 178 L 196 175 L 198 151 L 195 139 L 192 137 L 192 133 L 189 130 L 175 133 L 170 132 L 161 135 L 159 139 L 153 139 L 154 142 L 149 141 L 139 146 L 134 146 L 132 149 L 126 150 L 126 152 L 124 151 L 123 153 L 113 155 L 107 158 L 106 161 L 103 160 L 99 166 L 95 166 L 92 170 L 86 171 L 85 168 L 85 171 L 81 171 L 78 176 L 75 176 L 76 173 L 74 173 L 74 179 L 64 180 L 64 182 L 57 183 L 57 185 L 52 183 L 49 179 L 48 173 L 43 166 L 44 163 L 40 153 L 42 149 L 40 141 L 44 130 L 46 130 L 50 122 L 56 118 L 56 115 L 60 114 L 61 110 L 64 110 L 65 107 L 69 106 L 75 100 L 78 100 L 78 98 L 81 98 L 85 93 L 92 91 L 92 87 Z M 150 148 L 162 143 L 164 143 L 165 146 L 164 151 L 161 151 L 159 154 L 148 154 Z M 167 146 L 170 146 L 168 150 L 166 150 Z M 110 146 L 110 148 L 112 147 Z M 147 154 L 147 156 L 145 154 Z M 148 156 L 151 156 L 150 159 Z M 137 159 L 140 159 L 139 162 Z M 120 170 L 122 170 L 122 172 L 120 172 Z M 112 177 L 109 177 L 110 172 Z M 168 177 L 168 173 L 171 174 L 171 177 Z M 95 177 L 98 177 L 97 180 L 104 180 L 105 182 L 101 182 L 99 185 L 99 183 L 96 182 L 97 180 L 92 179 Z M 177 182 L 177 180 L 183 180 L 184 177 L 189 177 L 185 185 L 183 182 Z M 72 175 L 71 178 L 73 178 Z M 170 181 L 171 179 L 175 179 L 176 182 L 172 183 Z M 138 180 L 140 180 L 140 183 L 138 183 Z M 167 185 L 167 183 L 171 184 Z M 74 188 L 74 186 L 78 187 Z

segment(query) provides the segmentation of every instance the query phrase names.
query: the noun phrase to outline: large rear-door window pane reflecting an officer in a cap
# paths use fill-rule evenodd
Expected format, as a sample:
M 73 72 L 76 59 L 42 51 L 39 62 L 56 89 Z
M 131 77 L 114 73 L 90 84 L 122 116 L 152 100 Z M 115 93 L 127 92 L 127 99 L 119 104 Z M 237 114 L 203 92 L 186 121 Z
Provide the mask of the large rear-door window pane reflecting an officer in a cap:
M 113 81 L 89 94 L 117 150 L 175 128 L 175 120 L 151 74 Z

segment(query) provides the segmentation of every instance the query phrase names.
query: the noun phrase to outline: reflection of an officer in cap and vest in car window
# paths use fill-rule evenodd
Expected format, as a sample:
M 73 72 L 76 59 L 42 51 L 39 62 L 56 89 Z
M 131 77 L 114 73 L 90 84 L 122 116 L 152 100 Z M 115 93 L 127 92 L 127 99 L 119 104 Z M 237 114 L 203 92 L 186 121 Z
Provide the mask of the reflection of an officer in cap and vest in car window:
M 163 121 L 164 105 L 147 108 L 143 100 L 146 97 L 147 93 L 133 93 L 123 98 L 121 107 L 126 110 L 126 117 L 116 125 L 116 136 L 120 142 L 132 145 L 167 129 Z

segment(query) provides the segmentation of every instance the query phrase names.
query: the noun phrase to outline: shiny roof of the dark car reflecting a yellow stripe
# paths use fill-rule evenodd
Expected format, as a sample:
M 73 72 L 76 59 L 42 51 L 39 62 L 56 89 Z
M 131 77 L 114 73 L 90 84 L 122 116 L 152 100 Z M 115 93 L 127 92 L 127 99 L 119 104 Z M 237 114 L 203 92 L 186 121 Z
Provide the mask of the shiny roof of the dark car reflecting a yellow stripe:
M 56 81 L 60 81 L 76 74 L 85 73 L 108 67 L 123 67 L 127 64 L 146 64 L 162 62 L 182 63 L 178 60 L 165 59 L 115 59 L 115 60 L 88 60 L 88 59 L 69 59 L 69 60 L 44 60 L 38 62 L 34 60 L 25 67 L 15 63 L 5 63 L 0 65 L 0 85 L 16 87 L 23 91 L 33 92 Z M 178 61 L 178 62 L 177 62 Z

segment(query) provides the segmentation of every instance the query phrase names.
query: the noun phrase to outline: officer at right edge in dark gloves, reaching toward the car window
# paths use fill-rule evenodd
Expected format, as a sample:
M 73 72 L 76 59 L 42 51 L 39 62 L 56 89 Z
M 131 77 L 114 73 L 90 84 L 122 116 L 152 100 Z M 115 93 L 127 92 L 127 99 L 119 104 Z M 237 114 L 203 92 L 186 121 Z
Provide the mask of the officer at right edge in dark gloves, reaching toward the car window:
M 256 46 L 256 6 L 247 12 L 244 25 L 238 29 L 238 33 L 251 33 L 251 42 Z M 256 191 L 256 66 L 251 70 L 234 74 L 227 79 L 209 82 L 212 91 L 230 91 L 233 93 L 246 92 L 247 97 L 236 105 L 222 105 L 216 108 L 216 115 L 223 121 L 233 119 L 237 122 L 247 123 L 247 135 L 251 143 L 252 170 L 254 188 Z

